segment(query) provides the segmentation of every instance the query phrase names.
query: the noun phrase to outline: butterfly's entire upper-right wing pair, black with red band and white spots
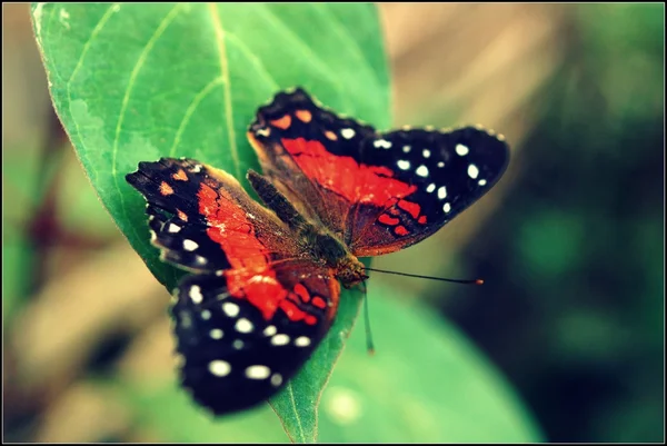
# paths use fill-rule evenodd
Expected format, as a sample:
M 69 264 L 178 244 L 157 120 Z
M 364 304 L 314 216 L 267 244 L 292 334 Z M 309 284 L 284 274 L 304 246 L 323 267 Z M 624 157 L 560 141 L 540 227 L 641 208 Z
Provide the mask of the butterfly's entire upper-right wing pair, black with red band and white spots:
M 428 237 L 489 190 L 509 161 L 489 131 L 378 133 L 301 89 L 261 107 L 248 137 L 265 175 L 358 257 Z

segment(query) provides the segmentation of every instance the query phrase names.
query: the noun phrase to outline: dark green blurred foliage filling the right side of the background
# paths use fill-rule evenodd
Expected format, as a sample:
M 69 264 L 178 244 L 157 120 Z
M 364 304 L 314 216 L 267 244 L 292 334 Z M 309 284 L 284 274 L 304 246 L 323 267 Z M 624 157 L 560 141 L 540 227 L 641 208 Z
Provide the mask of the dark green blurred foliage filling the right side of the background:
M 455 320 L 521 383 L 549 439 L 661 442 L 664 6 L 571 12 L 521 178 L 467 250 L 502 299 Z

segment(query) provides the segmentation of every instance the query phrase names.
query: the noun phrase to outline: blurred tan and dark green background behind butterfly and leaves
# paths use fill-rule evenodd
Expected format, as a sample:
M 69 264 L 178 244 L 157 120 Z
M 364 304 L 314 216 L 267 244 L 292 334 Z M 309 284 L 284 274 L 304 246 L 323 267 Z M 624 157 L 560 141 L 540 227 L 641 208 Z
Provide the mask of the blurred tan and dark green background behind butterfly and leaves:
M 545 439 L 664 440 L 664 4 L 379 9 L 395 125 L 481 122 L 512 161 L 435 240 L 375 264 L 486 286 L 374 280 L 456 324 Z M 104 385 L 172 373 L 166 290 L 76 160 L 28 4 L 2 6 L 2 37 L 4 439 L 169 440 Z

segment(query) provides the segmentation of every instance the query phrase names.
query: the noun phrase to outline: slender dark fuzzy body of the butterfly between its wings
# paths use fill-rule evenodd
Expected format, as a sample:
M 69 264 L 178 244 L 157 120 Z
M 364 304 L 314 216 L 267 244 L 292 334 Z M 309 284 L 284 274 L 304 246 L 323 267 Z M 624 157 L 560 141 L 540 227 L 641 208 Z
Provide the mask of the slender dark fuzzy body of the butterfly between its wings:
M 248 180 L 265 205 L 295 232 L 295 240 L 299 240 L 303 250 L 317 262 L 334 269 L 344 287 L 350 288 L 368 278 L 366 267 L 345 242 L 323 226 L 305 218 L 269 179 L 249 170 Z

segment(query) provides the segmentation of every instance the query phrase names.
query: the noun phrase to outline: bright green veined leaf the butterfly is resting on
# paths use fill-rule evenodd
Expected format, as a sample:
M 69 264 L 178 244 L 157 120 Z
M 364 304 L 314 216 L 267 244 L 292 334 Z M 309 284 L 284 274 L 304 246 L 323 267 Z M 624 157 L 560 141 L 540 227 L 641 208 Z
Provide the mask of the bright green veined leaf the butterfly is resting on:
M 241 179 L 258 166 L 245 136 L 257 107 L 293 86 L 379 128 L 390 122 L 371 4 L 34 3 L 32 19 L 56 110 L 92 186 L 168 289 L 180 272 L 159 261 L 143 199 L 125 181 L 139 161 L 191 157 Z M 317 395 L 359 298 L 344 293 L 341 303 L 289 387 L 295 404 L 272 400 L 293 439 L 315 438 Z

